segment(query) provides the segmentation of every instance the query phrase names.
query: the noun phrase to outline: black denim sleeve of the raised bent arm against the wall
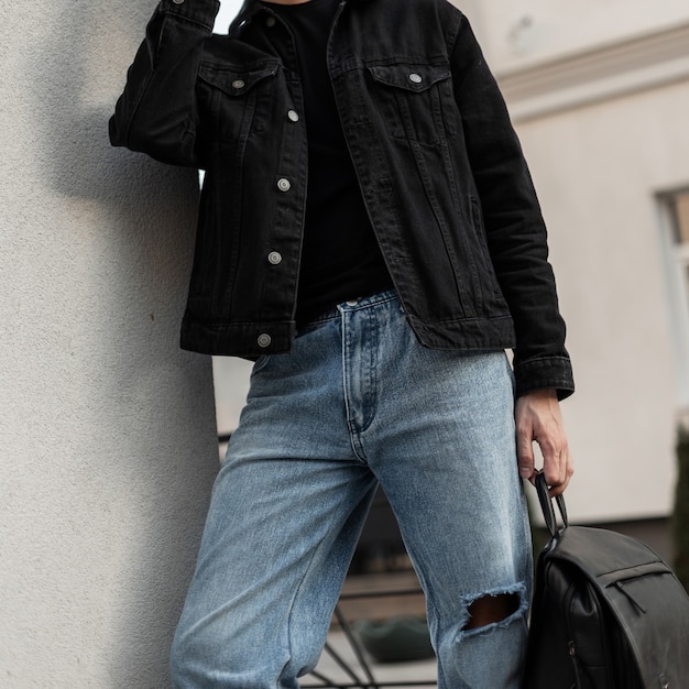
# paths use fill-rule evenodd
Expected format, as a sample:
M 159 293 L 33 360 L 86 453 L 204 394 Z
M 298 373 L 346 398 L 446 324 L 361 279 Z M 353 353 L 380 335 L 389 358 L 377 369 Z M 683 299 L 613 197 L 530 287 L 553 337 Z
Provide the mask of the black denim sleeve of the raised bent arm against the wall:
M 196 77 L 218 0 L 161 0 L 110 119 L 110 142 L 163 163 L 204 167 Z

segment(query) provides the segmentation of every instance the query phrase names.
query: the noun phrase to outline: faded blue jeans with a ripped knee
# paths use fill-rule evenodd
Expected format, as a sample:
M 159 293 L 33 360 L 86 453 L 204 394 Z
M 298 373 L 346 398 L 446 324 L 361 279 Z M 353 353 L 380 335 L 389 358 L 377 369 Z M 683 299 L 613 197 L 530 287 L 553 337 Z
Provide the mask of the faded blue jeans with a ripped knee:
M 504 352 L 420 347 L 394 292 L 260 359 L 175 636 L 175 687 L 295 689 L 382 484 L 427 599 L 441 689 L 516 689 L 531 539 Z M 516 612 L 467 630 L 470 604 Z

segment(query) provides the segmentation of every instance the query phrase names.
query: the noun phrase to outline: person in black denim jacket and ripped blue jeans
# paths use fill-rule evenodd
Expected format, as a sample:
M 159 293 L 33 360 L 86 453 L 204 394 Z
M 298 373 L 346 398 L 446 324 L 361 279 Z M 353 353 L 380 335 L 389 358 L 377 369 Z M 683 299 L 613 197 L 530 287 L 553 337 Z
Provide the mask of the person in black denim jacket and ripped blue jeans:
M 217 10 L 162 0 L 110 123 L 116 145 L 206 169 L 182 346 L 256 360 L 174 683 L 297 687 L 380 481 L 438 686 L 516 688 L 520 477 L 536 440 L 553 494 L 567 486 L 573 383 L 495 81 L 446 0 L 249 0 L 229 37 Z

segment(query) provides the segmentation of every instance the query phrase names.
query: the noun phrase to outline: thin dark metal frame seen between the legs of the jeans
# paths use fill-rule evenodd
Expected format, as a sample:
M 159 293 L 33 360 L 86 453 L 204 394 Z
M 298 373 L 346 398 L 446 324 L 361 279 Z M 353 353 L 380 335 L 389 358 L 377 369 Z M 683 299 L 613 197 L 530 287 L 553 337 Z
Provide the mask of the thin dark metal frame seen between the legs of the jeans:
M 389 597 L 389 595 L 418 595 L 420 593 L 420 589 L 397 589 L 391 591 L 365 591 L 361 593 L 342 593 L 340 600 L 348 599 L 361 599 L 361 598 L 380 598 L 380 597 Z M 342 614 L 340 605 L 338 604 L 335 609 L 335 619 L 340 625 L 342 632 L 344 633 L 344 637 L 349 643 L 357 661 L 361 666 L 360 677 L 357 675 L 356 670 L 347 664 L 344 658 L 340 654 L 338 654 L 335 648 L 329 643 L 325 645 L 325 653 L 327 653 L 336 664 L 344 671 L 344 674 L 350 678 L 348 681 L 341 682 L 336 681 L 329 677 L 320 672 L 311 672 L 309 677 L 317 679 L 321 683 L 318 685 L 304 685 L 303 689 L 382 689 L 383 687 L 437 687 L 437 679 L 428 679 L 428 680 L 416 680 L 416 681 L 379 681 L 375 679 L 373 675 L 373 669 L 371 665 L 365 658 L 363 648 L 361 647 L 361 643 L 352 632 L 352 628 Z

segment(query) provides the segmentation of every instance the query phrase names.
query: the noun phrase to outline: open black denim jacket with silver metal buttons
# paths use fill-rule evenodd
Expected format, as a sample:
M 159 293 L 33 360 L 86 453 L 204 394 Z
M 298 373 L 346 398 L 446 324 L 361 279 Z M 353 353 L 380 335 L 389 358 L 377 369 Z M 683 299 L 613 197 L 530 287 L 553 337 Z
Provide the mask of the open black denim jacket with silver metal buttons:
M 110 139 L 206 171 L 182 346 L 255 358 L 288 351 L 295 336 L 306 122 L 296 55 L 287 64 L 272 47 L 271 32 L 288 29 L 256 2 L 234 37 L 211 35 L 218 9 L 162 0 Z M 517 394 L 570 394 L 546 229 L 467 19 L 446 0 L 342 0 L 328 67 L 367 210 L 419 341 L 514 348 Z

